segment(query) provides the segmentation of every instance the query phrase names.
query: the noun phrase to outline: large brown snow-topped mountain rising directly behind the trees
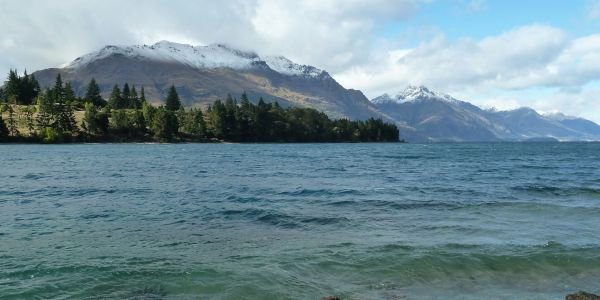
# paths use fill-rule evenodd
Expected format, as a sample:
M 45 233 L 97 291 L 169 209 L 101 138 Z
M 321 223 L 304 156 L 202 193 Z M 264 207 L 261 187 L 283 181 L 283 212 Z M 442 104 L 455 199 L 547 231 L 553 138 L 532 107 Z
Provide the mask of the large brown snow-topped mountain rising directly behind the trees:
M 159 42 L 152 46 L 107 46 L 64 68 L 34 74 L 42 87 L 48 87 L 58 73 L 79 95 L 95 78 L 104 97 L 114 84 L 127 82 L 138 89 L 143 86 L 149 101 L 161 103 L 173 84 L 189 106 L 206 106 L 228 94 L 239 96 L 246 91 L 253 100 L 263 97 L 284 106 L 312 107 L 334 118 L 390 121 L 362 92 L 345 89 L 325 71 L 224 45 L 193 47 Z

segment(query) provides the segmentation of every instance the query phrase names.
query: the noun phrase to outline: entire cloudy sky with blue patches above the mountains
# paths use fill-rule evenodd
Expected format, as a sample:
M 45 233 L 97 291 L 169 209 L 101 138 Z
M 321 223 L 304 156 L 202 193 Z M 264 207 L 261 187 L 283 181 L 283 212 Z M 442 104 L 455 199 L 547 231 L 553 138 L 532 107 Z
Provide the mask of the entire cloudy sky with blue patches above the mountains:
M 600 123 L 600 0 L 0 0 L 0 72 L 105 45 L 226 43 L 369 98 L 425 85 Z

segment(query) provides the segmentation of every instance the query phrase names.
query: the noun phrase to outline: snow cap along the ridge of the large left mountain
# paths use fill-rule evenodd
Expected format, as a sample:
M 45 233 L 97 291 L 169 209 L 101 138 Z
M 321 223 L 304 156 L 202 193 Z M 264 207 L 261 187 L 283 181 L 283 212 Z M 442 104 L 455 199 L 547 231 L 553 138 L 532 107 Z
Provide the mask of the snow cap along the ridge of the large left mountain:
M 275 72 L 289 76 L 318 77 L 323 73 L 322 70 L 315 67 L 296 64 L 283 56 L 268 56 L 263 60 L 254 52 L 238 50 L 226 44 L 192 46 L 169 41 L 160 41 L 150 46 L 109 45 L 99 51 L 79 57 L 63 67 L 81 68 L 113 55 L 122 55 L 137 60 L 176 62 L 198 69 L 246 70 L 266 64 Z

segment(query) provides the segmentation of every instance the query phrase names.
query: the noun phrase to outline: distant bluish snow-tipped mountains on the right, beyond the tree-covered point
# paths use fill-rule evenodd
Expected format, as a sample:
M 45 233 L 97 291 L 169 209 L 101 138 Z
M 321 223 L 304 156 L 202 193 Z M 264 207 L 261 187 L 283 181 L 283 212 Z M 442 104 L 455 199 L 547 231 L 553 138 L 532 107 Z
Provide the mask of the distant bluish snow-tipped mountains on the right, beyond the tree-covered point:
M 410 86 L 395 97 L 386 94 L 372 101 L 383 113 L 414 129 L 407 132 L 418 141 L 600 140 L 600 126 L 585 119 L 543 116 L 531 108 L 482 110 L 426 87 Z

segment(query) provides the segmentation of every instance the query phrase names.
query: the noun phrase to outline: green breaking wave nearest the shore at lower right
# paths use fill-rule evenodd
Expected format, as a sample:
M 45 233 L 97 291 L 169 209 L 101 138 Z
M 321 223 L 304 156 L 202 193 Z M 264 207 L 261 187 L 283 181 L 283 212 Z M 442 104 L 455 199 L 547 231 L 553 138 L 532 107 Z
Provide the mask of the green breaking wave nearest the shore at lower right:
M 370 258 L 359 266 L 366 267 L 365 272 L 410 272 L 411 281 L 461 275 L 537 274 L 548 278 L 600 272 L 599 246 L 567 246 L 553 241 L 535 246 L 444 244 L 431 248 L 389 244 L 370 248 L 368 253 Z

